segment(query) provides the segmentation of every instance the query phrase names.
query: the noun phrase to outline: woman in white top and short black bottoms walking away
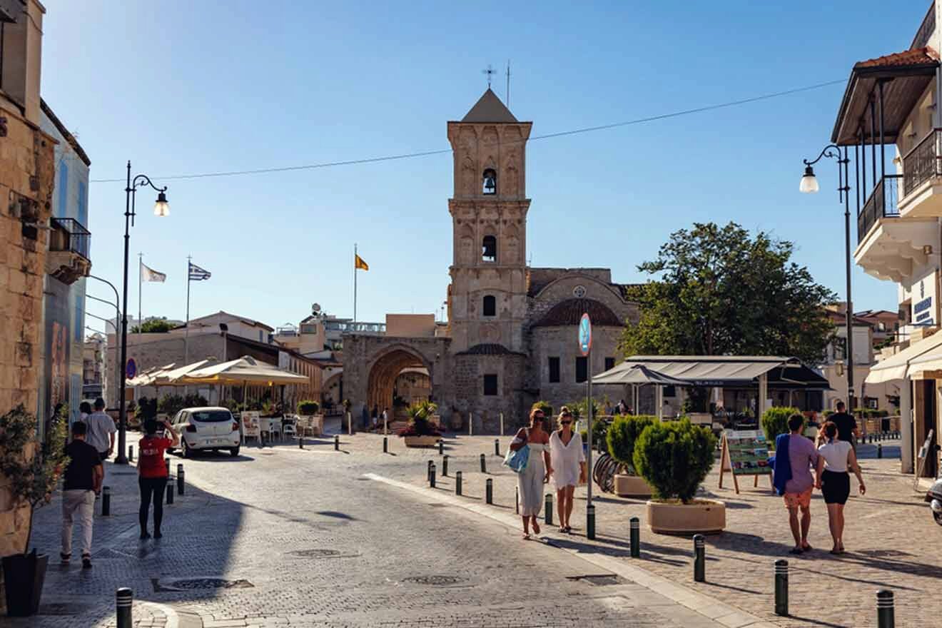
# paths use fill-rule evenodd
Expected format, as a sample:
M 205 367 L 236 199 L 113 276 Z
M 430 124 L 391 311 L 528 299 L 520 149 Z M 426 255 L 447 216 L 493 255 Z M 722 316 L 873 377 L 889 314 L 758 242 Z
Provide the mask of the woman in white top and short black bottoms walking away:
M 827 504 L 828 526 L 831 528 L 831 538 L 834 548 L 831 554 L 844 553 L 844 505 L 851 494 L 851 477 L 848 467 L 857 476 L 858 490 L 863 495 L 867 492 L 864 486 L 863 475 L 860 474 L 860 465 L 857 456 L 853 453 L 853 446 L 848 441 L 838 438 L 837 426 L 833 421 L 824 424 L 824 436 L 827 443 L 818 449 L 818 468 L 815 478 L 815 487 L 824 495 Z

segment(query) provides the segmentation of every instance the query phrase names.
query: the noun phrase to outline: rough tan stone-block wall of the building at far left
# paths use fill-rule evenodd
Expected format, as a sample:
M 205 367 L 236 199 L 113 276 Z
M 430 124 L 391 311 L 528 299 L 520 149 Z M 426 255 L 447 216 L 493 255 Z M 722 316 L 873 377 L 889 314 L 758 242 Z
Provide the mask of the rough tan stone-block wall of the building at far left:
M 0 104 L 0 413 L 39 402 L 42 276 L 54 185 L 54 140 Z M 0 476 L 0 556 L 24 550 L 29 509 L 11 509 Z

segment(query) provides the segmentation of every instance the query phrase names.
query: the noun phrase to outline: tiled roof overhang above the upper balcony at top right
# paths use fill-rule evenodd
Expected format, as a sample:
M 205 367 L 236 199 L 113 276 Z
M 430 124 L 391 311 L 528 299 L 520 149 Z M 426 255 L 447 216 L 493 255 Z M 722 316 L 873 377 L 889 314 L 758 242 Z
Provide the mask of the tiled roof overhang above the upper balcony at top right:
M 877 94 L 881 82 L 884 86 L 884 139 L 887 142 L 895 141 L 938 67 L 938 54 L 928 46 L 855 64 L 844 91 L 844 98 L 837 110 L 831 141 L 841 146 L 858 144 L 858 132 L 861 127 L 865 136 L 864 143 L 879 141 L 879 102 L 875 105 L 874 137 L 870 137 L 869 103 L 871 98 L 879 97 Z

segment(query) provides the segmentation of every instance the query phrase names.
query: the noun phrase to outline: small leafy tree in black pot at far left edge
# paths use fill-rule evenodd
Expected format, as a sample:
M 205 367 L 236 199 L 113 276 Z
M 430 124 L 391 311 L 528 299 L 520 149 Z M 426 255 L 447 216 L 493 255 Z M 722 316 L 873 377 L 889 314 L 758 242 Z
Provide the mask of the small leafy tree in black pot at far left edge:
M 52 498 L 59 475 L 69 459 L 65 455 L 68 409 L 53 417 L 46 441 L 37 451 L 37 421 L 33 414 L 17 406 L 0 416 L 0 474 L 7 477 L 11 509 L 22 511 L 27 521 L 23 553 L 3 557 L 7 614 L 28 617 L 40 608 L 42 583 L 49 556 L 29 552 L 33 534 L 33 511 Z M 19 519 L 14 515 L 14 519 Z

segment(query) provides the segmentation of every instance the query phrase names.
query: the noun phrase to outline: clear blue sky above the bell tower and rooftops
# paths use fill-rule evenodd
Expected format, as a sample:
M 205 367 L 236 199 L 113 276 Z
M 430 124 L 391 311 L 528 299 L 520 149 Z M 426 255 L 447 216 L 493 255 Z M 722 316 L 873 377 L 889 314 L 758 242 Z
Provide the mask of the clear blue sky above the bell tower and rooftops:
M 928 4 L 46 0 L 42 94 L 89 153 L 92 179 L 122 178 L 130 158 L 159 183 L 447 148 L 446 121 L 479 98 L 481 70 L 507 59 L 511 109 L 534 135 L 846 80 L 855 61 L 906 49 Z M 797 261 L 843 298 L 836 166 L 819 169 L 820 194 L 798 192 L 843 89 L 531 142 L 533 265 L 609 266 L 640 282 L 636 266 L 669 233 L 735 220 L 797 242 Z M 495 90 L 503 98 L 502 75 Z M 351 315 L 354 241 L 370 265 L 361 320 L 446 298 L 448 154 L 166 184 L 169 218 L 138 195 L 135 312 L 143 252 L 168 274 L 145 284 L 145 315 L 183 318 L 187 254 L 213 273 L 193 283 L 193 316 L 278 326 L 314 301 Z M 122 183 L 90 185 L 93 272 L 116 283 L 123 209 Z M 858 268 L 854 297 L 858 310 L 896 308 L 895 285 Z

